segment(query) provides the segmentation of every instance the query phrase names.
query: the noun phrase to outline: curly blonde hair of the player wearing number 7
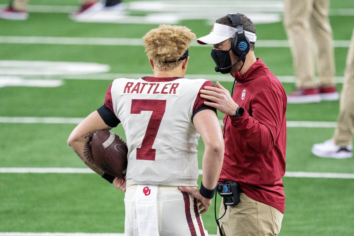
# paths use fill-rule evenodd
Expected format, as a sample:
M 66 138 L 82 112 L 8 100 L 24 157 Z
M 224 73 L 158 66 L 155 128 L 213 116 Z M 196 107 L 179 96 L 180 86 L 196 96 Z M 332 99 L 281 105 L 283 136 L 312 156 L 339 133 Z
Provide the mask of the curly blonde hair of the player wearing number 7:
M 160 25 L 143 37 L 145 52 L 159 70 L 171 70 L 182 61 L 177 61 L 188 49 L 195 34 L 185 26 Z M 173 62 L 177 61 L 177 62 Z

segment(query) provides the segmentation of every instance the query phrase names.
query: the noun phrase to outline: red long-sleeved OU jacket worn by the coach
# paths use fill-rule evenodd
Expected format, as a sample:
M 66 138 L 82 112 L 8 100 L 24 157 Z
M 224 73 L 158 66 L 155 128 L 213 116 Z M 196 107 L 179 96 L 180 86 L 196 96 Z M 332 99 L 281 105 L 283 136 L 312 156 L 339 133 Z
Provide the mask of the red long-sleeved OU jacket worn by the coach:
M 268 67 L 257 61 L 236 74 L 233 100 L 244 108 L 241 117 L 225 124 L 225 156 L 219 181 L 233 180 L 250 198 L 284 213 L 286 93 Z

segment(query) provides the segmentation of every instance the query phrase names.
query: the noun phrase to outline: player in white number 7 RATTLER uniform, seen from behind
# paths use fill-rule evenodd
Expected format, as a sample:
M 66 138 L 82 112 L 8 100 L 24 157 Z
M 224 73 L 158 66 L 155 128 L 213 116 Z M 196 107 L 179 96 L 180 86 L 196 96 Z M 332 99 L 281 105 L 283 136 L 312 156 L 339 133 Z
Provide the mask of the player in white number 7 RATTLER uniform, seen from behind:
M 209 209 L 215 194 L 224 141 L 216 109 L 200 97 L 200 90 L 214 85 L 184 78 L 193 39 L 187 27 L 160 25 L 150 30 L 143 41 L 153 76 L 114 80 L 104 105 L 68 139 L 87 166 L 126 190 L 125 235 L 208 235 L 200 214 Z M 93 132 L 119 123 L 128 146 L 126 182 L 99 169 L 88 146 Z M 205 150 L 197 189 L 200 136 Z

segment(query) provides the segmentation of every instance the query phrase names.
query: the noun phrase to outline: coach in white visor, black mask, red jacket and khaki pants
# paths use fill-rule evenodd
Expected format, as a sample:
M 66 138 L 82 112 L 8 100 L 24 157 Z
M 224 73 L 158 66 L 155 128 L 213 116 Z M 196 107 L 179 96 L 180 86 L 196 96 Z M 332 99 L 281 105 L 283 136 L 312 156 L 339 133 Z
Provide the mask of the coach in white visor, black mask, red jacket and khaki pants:
M 234 194 L 239 192 L 240 198 L 226 210 L 222 203 L 219 217 L 225 215 L 218 235 L 278 235 L 285 208 L 284 88 L 255 57 L 256 29 L 245 15 L 217 19 L 210 34 L 197 41 L 213 45 L 215 70 L 230 73 L 236 82 L 231 95 L 219 82 L 217 87 L 206 86 L 200 95 L 212 101 L 205 105 L 225 114 L 225 155 L 218 183 L 237 185 Z

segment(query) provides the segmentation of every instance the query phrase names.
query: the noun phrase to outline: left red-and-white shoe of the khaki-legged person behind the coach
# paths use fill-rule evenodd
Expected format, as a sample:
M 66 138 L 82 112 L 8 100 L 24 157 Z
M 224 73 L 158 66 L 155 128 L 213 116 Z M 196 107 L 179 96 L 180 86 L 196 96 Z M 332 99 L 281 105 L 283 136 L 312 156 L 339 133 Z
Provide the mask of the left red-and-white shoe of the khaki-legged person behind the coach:
M 298 88 L 287 96 L 287 103 L 318 103 L 321 102 L 319 88 Z

